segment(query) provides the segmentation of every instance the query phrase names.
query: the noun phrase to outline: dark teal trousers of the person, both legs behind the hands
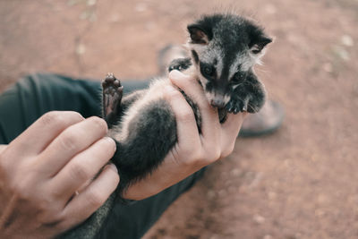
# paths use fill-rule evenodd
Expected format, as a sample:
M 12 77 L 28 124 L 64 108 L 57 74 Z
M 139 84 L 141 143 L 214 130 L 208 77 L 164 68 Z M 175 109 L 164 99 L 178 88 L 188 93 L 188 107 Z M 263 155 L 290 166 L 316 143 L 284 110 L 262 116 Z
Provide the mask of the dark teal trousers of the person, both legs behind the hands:
M 145 88 L 148 81 L 124 81 L 123 85 L 125 94 Z M 45 73 L 27 76 L 0 95 L 0 144 L 13 141 L 48 111 L 71 110 L 84 117 L 99 116 L 100 100 L 98 81 L 74 80 Z M 131 205 L 108 200 L 83 225 L 62 237 L 98 238 L 98 235 L 102 235 L 104 238 L 140 238 L 180 194 L 192 187 L 203 172 L 204 169 L 157 195 Z M 103 225 L 109 220 L 115 221 L 115 226 L 105 229 Z

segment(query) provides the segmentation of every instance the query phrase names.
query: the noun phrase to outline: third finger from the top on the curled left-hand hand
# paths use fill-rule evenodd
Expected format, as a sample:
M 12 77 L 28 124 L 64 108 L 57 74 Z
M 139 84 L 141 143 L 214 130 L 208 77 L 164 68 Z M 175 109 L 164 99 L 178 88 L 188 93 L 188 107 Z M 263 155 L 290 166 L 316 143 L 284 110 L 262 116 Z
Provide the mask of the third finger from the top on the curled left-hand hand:
M 115 141 L 105 137 L 68 162 L 52 179 L 52 188 L 64 198 L 70 198 L 83 184 L 93 179 L 115 154 Z

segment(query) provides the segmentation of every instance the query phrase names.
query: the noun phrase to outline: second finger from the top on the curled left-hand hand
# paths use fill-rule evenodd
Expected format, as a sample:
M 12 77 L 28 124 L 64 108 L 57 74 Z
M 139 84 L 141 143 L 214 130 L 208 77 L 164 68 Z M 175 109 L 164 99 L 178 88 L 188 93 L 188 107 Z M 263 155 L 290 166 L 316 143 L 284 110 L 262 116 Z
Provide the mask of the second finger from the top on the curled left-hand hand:
M 74 124 L 55 138 L 40 154 L 39 166 L 54 176 L 65 164 L 83 149 L 103 138 L 107 133 L 107 123 L 98 117 L 90 117 Z

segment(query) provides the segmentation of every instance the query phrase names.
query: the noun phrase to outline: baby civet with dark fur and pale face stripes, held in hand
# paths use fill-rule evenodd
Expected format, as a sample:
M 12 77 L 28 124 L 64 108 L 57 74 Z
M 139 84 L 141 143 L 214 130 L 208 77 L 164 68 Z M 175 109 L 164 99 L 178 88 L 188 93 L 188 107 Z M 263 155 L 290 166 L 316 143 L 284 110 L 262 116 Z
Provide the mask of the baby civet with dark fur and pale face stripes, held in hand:
M 258 112 L 266 93 L 252 67 L 260 63 L 264 47 L 272 39 L 252 21 L 228 13 L 205 15 L 187 29 L 191 57 L 174 60 L 169 71 L 194 73 L 211 106 L 217 107 L 221 123 L 227 113 Z M 163 97 L 168 84 L 167 78 L 160 78 L 148 90 L 122 99 L 123 87 L 113 74 L 102 82 L 103 115 L 109 135 L 117 143 L 112 160 L 121 178 L 120 195 L 155 170 L 177 141 L 175 115 Z M 200 109 L 183 95 L 200 130 Z

